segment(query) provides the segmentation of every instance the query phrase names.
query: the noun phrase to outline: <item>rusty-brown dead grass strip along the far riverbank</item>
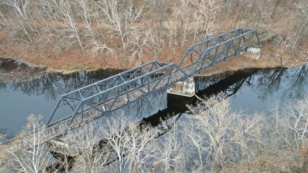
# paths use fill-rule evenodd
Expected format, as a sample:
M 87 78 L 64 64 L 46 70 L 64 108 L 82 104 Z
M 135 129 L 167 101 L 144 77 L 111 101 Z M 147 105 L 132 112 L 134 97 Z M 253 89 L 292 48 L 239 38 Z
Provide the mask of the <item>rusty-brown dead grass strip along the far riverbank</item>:
M 301 66 L 308 62 L 308 44 L 301 44 L 298 47 L 298 51 L 291 54 L 284 53 L 283 55 L 278 55 L 280 51 L 279 47 L 274 46 L 271 43 L 262 44 L 262 54 L 259 60 L 252 60 L 241 55 L 237 57 L 231 57 L 225 62 L 216 64 L 214 67 L 206 69 L 200 75 L 212 75 L 216 73 L 222 73 L 224 71 L 237 71 L 239 69 L 246 68 L 266 68 L 274 66 Z M 177 51 L 178 54 L 181 53 L 180 50 Z M 281 54 L 281 53 L 280 53 Z M 144 62 L 151 61 L 151 54 L 146 55 L 147 58 Z M 125 69 L 132 68 L 133 66 L 138 66 L 140 62 L 132 62 L 131 66 L 128 66 L 126 62 L 122 61 L 121 66 L 117 60 L 103 60 L 99 57 L 83 57 L 83 54 L 78 51 L 67 52 L 58 57 L 17 57 L 17 59 L 26 62 L 26 64 L 31 64 L 32 66 L 47 66 L 50 71 L 60 71 L 63 73 L 69 73 L 72 71 L 80 70 L 96 70 L 96 69 Z M 162 56 L 158 59 L 163 62 L 178 63 L 180 60 L 180 55 L 178 57 L 169 58 L 167 53 L 162 53 Z M 126 66 L 123 64 L 126 64 Z

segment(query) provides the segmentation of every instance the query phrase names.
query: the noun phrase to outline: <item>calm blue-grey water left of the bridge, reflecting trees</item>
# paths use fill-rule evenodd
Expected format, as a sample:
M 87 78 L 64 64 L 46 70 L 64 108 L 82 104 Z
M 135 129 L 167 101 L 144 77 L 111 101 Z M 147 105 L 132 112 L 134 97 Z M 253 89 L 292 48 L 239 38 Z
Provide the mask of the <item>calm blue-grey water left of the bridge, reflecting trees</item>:
M 0 83 L 0 127 L 8 128 L 9 134 L 17 134 L 31 113 L 41 114 L 46 122 L 60 95 L 120 72 L 106 69 L 52 73 L 26 82 Z

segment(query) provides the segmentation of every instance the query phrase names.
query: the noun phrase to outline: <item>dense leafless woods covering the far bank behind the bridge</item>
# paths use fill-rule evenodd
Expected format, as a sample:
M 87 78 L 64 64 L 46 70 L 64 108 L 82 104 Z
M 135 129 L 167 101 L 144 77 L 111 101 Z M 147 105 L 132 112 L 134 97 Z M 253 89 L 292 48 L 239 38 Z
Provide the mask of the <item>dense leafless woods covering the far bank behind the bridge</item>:
M 305 39 L 307 17 L 305 0 L 3 0 L 0 52 L 96 58 L 110 67 L 130 67 L 177 62 L 192 44 L 235 28 L 256 28 L 280 56 Z

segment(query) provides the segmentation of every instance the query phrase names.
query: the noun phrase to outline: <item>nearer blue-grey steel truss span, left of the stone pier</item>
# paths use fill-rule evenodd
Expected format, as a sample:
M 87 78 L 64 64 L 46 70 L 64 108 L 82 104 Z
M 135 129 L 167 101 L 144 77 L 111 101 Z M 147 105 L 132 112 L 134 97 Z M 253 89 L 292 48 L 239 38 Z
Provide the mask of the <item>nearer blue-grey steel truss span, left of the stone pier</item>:
M 105 113 L 129 104 L 132 100 L 175 83 L 170 80 L 175 71 L 186 78 L 187 74 L 176 64 L 152 61 L 62 95 L 47 125 L 50 125 L 55 112 L 62 106 L 69 106 L 74 111 L 69 117 L 68 125 L 71 125 L 76 115 L 81 113 L 83 117 L 87 109 Z

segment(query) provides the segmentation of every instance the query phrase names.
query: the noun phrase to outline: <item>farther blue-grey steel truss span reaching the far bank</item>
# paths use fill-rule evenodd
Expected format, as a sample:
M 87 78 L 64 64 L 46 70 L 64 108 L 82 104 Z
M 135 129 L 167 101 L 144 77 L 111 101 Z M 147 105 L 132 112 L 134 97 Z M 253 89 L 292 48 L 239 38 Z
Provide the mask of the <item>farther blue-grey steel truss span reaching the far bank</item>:
M 192 76 L 259 43 L 257 30 L 238 28 L 190 46 L 178 66 L 182 69 L 188 64 L 194 65 L 189 74 Z

